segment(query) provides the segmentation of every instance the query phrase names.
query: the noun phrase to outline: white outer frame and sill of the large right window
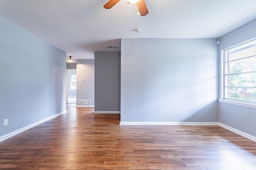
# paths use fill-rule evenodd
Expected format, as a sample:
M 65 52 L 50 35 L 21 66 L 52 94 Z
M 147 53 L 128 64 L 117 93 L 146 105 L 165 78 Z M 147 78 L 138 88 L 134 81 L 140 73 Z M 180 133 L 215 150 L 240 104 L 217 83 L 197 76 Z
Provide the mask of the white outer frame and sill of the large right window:
M 219 99 L 219 102 L 222 103 L 227 103 L 227 104 L 235 104 L 235 105 L 239 105 L 239 106 L 245 106 L 245 107 L 252 107 L 252 108 L 256 108 L 256 102 L 251 102 L 251 101 L 243 101 L 243 100 L 233 100 L 230 98 L 225 98 L 225 68 L 226 68 L 226 51 L 233 49 L 235 47 L 244 45 L 246 43 L 250 43 L 251 41 L 256 41 L 256 38 L 254 39 L 250 39 L 249 41 L 240 43 L 238 45 L 234 45 L 232 47 L 229 47 L 227 49 L 224 49 L 221 51 L 221 55 L 222 55 L 222 65 L 221 65 L 221 69 L 222 69 L 222 84 L 221 84 L 221 96 L 222 99 Z M 255 54 L 256 55 L 256 54 Z

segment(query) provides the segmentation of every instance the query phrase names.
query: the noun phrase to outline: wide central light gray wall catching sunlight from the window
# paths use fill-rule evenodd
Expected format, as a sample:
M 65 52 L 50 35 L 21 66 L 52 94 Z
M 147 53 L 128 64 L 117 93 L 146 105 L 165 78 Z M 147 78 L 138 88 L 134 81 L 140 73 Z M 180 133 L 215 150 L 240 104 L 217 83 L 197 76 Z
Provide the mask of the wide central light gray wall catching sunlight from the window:
M 121 121 L 218 122 L 216 39 L 121 39 Z

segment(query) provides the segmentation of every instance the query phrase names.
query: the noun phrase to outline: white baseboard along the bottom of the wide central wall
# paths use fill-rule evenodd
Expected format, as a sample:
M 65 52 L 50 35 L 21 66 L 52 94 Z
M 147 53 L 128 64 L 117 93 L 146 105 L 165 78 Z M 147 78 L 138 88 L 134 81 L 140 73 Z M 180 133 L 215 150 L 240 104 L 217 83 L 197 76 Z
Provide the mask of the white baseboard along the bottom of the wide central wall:
M 119 125 L 183 125 L 183 126 L 217 126 L 218 122 L 135 122 L 120 121 Z

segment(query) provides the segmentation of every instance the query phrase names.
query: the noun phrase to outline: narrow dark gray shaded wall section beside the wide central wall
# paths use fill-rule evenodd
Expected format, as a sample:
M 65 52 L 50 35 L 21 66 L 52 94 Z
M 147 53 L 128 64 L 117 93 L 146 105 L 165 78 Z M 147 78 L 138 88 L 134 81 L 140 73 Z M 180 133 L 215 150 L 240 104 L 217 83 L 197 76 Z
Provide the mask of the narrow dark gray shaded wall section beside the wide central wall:
M 95 111 L 120 111 L 120 52 L 95 52 Z

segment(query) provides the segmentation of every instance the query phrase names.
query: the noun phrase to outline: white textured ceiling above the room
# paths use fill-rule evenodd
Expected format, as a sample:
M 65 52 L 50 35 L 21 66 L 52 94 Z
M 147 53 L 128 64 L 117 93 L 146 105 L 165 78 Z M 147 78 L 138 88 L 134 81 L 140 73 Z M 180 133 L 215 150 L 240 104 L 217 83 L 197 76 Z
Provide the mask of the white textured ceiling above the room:
M 149 14 L 120 0 L 0 0 L 0 18 L 62 49 L 72 59 L 94 59 L 94 51 L 120 38 L 218 38 L 256 19 L 256 0 L 144 0 Z M 140 28 L 137 33 L 135 29 Z

